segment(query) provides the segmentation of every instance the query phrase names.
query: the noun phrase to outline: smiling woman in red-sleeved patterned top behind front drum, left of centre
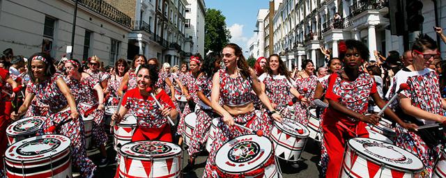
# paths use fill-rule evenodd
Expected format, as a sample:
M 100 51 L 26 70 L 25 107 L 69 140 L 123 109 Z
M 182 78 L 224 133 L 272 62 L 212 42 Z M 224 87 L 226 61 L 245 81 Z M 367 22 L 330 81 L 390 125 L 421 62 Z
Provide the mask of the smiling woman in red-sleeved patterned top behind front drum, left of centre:
M 155 65 L 140 65 L 137 71 L 137 88 L 125 92 L 122 106 L 118 113 L 112 115 L 112 120 L 119 123 L 128 111 L 134 113 L 138 126 L 132 136 L 132 142 L 141 140 L 172 142 L 171 126 L 166 117 L 176 118 L 178 112 L 169 95 L 161 88 L 155 87 L 157 72 Z M 156 104 L 151 94 L 155 95 L 163 109 Z

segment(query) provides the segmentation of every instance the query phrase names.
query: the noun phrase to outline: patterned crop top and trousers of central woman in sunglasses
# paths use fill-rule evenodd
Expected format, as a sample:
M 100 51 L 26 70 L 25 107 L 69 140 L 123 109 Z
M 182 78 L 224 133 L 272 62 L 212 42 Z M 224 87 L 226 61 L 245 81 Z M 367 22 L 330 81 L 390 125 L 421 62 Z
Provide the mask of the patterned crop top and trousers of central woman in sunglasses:
M 227 106 L 243 106 L 252 102 L 252 96 L 250 92 L 252 90 L 251 77 L 243 78 L 240 74 L 237 78 L 231 78 L 226 70 L 219 70 L 220 76 L 220 99 L 222 104 Z M 253 130 L 265 130 L 262 124 L 263 118 L 266 117 L 265 113 L 260 111 L 250 111 L 242 115 L 233 116 L 233 119 L 238 124 L 248 127 Z M 212 148 L 206 161 L 206 167 L 203 173 L 203 177 L 215 177 L 217 169 L 215 166 L 215 154 L 222 145 L 233 138 L 249 134 L 250 132 L 239 127 L 229 127 L 224 124 L 222 118 L 217 125 L 217 133 L 213 142 Z

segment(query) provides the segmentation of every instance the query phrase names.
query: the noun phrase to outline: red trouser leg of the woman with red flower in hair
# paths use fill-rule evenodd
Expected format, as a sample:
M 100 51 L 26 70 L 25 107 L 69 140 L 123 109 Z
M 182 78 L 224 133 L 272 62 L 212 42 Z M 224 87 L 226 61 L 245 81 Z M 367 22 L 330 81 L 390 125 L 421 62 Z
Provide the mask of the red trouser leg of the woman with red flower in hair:
M 338 177 L 342 168 L 342 159 L 344 156 L 344 137 L 343 129 L 331 119 L 325 118 L 323 125 L 323 142 L 328 154 L 328 165 L 326 177 Z

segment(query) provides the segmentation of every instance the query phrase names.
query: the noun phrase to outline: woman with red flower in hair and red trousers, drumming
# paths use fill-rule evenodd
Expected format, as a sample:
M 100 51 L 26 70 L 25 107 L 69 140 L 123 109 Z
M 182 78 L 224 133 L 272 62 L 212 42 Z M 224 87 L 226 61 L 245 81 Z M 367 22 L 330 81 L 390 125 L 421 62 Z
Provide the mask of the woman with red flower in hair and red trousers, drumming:
M 338 177 L 341 170 L 346 140 L 354 137 L 368 137 L 366 123 L 377 124 L 378 115 L 367 113 L 369 97 L 382 108 L 385 105 L 376 92 L 374 79 L 360 70 L 364 60 L 369 58 L 369 49 L 360 41 L 346 40 L 346 53 L 341 54 L 344 70 L 332 74 L 328 79 L 325 98 L 330 107 L 323 115 L 323 144 L 328 153 L 326 177 Z M 392 110 L 387 108 L 385 114 L 404 127 L 415 127 L 399 120 Z

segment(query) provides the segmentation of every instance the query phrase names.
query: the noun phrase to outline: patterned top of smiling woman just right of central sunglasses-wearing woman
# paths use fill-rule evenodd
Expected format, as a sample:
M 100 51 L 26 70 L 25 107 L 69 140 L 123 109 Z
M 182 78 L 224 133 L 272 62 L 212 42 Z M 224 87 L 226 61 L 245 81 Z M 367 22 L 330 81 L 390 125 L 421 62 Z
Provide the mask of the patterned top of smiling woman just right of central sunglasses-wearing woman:
M 259 80 L 265 83 L 266 95 L 272 103 L 285 106 L 291 99 L 291 83 L 284 75 L 263 73 Z

